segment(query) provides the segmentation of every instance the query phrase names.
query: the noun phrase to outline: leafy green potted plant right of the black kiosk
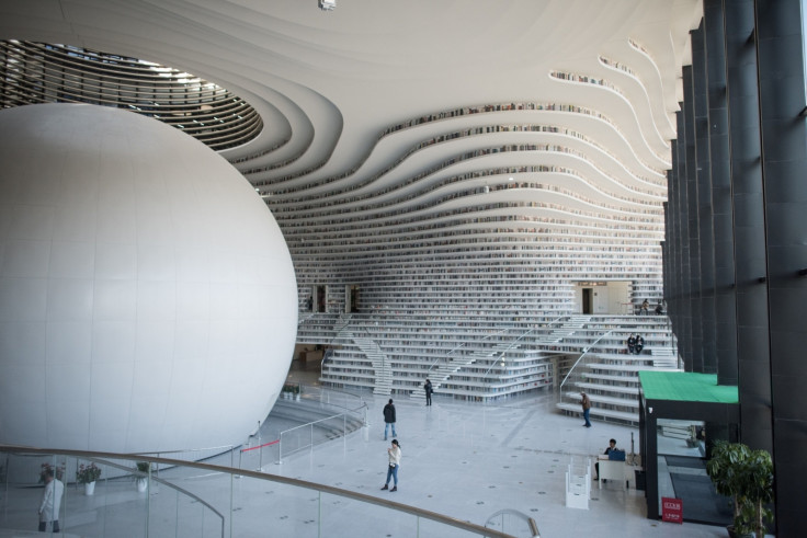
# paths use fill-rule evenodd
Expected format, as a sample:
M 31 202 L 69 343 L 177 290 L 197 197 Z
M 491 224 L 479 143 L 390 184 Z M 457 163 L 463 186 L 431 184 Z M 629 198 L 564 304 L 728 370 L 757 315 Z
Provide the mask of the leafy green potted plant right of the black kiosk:
M 773 513 L 773 461 L 766 450 L 751 450 L 741 443 L 718 440 L 706 462 L 706 472 L 720 495 L 734 502 L 734 525 L 729 536 L 765 536 L 765 523 Z

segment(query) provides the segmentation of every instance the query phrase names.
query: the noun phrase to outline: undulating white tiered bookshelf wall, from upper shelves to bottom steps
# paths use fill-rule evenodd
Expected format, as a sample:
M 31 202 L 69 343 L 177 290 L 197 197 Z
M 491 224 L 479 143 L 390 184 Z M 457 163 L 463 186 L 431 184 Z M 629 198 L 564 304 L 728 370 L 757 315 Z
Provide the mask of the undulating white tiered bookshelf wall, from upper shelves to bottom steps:
M 598 60 L 599 77 L 549 76 L 613 94 L 606 77 L 616 72 L 640 91 L 640 73 Z M 558 115 L 576 116 L 575 128 Z M 371 151 L 350 171 L 308 182 L 305 172 L 272 180 L 268 168 L 248 170 L 288 241 L 300 309 L 327 287 L 326 312 L 298 333 L 333 348 L 322 381 L 422 398 L 429 377 L 437 394 L 495 401 L 565 380 L 564 412 L 579 410 L 571 392 L 584 389 L 595 416 L 634 422 L 638 369 L 675 366 L 667 319 L 633 316 L 661 299 L 669 165 L 652 113 L 641 117 L 618 125 L 573 103 L 469 106 L 386 129 L 376 146 L 394 157 L 375 165 Z M 614 151 L 604 133 L 630 150 Z M 580 282 L 626 283 L 627 297 L 609 316 L 580 317 Z M 359 288 L 352 307 L 348 286 Z M 647 341 L 639 357 L 623 353 L 633 329 Z M 652 350 L 668 359 L 653 364 Z

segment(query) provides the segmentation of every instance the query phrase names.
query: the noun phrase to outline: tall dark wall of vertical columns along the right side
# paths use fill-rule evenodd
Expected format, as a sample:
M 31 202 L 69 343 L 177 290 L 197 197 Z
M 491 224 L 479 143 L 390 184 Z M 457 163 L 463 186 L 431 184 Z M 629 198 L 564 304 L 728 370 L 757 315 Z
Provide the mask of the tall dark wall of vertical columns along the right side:
M 682 73 L 663 243 L 684 364 L 738 385 L 739 438 L 774 458 L 778 536 L 803 534 L 807 482 L 803 3 L 704 0 Z

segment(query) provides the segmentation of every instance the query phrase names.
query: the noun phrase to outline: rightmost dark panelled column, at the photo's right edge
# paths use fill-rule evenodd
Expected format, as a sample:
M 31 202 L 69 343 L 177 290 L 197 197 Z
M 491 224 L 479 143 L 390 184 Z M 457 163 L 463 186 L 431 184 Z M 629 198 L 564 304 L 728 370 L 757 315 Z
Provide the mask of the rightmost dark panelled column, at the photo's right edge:
M 749 432 L 743 416 L 742 439 L 771 446 L 765 419 L 771 420 L 772 408 L 776 534 L 797 536 L 807 481 L 807 277 L 800 274 L 807 267 L 805 13 L 800 0 L 755 4 L 768 279 L 754 289 L 768 291 L 770 355 L 740 357 L 741 409 L 745 415 L 750 405 L 749 425 L 754 421 Z

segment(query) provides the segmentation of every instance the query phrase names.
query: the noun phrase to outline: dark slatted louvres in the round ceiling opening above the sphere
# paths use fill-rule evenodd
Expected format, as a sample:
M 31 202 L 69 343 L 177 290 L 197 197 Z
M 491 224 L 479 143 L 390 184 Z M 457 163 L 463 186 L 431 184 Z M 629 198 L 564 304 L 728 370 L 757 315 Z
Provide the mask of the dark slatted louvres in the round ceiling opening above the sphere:
M 260 114 L 232 92 L 179 69 L 68 45 L 0 41 L 0 107 L 91 103 L 128 110 L 193 136 L 215 150 L 263 129 Z

